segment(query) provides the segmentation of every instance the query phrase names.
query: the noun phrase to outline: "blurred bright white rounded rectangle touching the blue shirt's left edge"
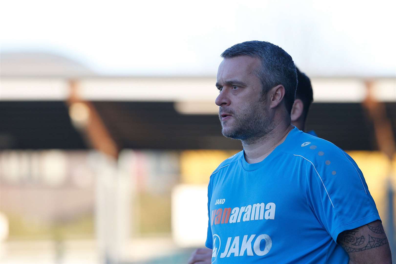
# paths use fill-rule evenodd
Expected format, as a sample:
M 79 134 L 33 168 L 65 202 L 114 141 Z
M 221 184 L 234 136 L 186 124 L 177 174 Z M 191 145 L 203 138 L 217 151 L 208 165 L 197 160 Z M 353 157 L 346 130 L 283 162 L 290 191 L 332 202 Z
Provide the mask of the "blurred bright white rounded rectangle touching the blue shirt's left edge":
M 208 186 L 181 184 L 172 190 L 173 240 L 180 247 L 203 246 L 208 233 Z

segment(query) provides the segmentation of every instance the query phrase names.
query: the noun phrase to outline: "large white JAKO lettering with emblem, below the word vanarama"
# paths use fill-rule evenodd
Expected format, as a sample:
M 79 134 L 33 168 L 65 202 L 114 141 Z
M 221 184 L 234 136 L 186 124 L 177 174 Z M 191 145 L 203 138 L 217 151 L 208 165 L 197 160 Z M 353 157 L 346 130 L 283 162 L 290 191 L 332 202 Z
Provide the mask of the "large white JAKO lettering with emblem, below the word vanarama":
M 217 239 L 217 237 L 219 237 L 219 236 L 216 234 L 213 235 L 212 260 L 213 260 L 213 256 L 214 256 L 214 252 L 215 252 L 215 239 Z M 252 248 L 252 242 L 253 242 L 254 238 L 256 238 L 256 239 L 253 243 L 253 248 Z M 228 237 L 224 252 L 220 254 L 220 258 L 228 258 L 232 254 L 233 254 L 233 256 L 244 256 L 245 252 L 246 252 L 247 256 L 254 256 L 254 255 L 264 256 L 272 248 L 272 239 L 267 234 L 261 234 L 261 235 L 258 235 L 257 237 L 256 237 L 256 235 L 250 235 L 250 237 L 249 237 L 249 235 L 244 235 L 241 244 L 239 243 L 239 239 L 240 239 L 239 236 L 234 237 L 234 239 L 232 239 L 232 237 Z M 231 243 L 231 240 L 232 240 L 232 243 Z M 261 243 L 262 240 L 265 241 L 265 246 L 264 246 L 263 250 L 261 250 L 263 247 L 260 247 L 260 244 L 263 244 L 263 243 Z M 219 237 L 219 241 L 220 241 L 220 237 Z M 219 245 L 220 245 L 220 243 L 219 243 Z M 219 249 L 220 249 L 220 246 L 218 248 L 216 248 L 216 256 L 217 256 L 217 254 L 219 254 L 219 252 L 218 252 Z M 254 252 L 254 254 L 253 254 L 253 252 Z M 212 263 L 215 260 L 216 260 L 216 258 L 212 261 Z

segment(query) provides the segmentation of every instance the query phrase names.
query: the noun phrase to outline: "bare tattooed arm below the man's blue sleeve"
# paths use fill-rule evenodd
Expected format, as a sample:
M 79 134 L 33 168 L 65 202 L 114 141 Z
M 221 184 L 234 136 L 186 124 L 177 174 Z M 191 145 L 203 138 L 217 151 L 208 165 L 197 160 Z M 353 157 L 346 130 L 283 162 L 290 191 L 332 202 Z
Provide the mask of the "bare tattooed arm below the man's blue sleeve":
M 392 263 L 388 239 L 381 221 L 346 230 L 337 237 L 349 255 L 349 263 Z

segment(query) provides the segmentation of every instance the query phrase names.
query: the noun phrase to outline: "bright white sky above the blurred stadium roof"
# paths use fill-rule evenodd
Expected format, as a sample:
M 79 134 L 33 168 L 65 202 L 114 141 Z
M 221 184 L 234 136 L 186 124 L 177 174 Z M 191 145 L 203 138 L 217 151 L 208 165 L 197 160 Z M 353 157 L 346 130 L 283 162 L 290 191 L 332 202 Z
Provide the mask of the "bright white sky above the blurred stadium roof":
M 310 76 L 394 77 L 395 3 L 4 0 L 1 52 L 55 52 L 105 75 L 213 76 L 226 48 L 267 40 Z

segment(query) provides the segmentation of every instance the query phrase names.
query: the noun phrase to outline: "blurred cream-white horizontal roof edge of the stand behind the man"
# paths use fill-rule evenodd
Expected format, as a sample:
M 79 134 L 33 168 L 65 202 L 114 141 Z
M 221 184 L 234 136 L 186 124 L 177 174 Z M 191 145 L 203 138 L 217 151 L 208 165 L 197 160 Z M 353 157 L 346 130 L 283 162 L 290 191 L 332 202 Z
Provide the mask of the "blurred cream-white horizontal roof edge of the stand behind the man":
M 73 78 L 72 78 L 73 79 Z M 217 111 L 215 77 L 78 77 L 78 94 L 88 101 L 207 102 Z M 3 76 L 0 100 L 66 100 L 70 78 Z M 316 102 L 361 102 L 366 97 L 365 79 L 311 78 Z M 374 79 L 379 101 L 396 101 L 396 79 Z M 210 105 L 207 104 L 207 105 Z

